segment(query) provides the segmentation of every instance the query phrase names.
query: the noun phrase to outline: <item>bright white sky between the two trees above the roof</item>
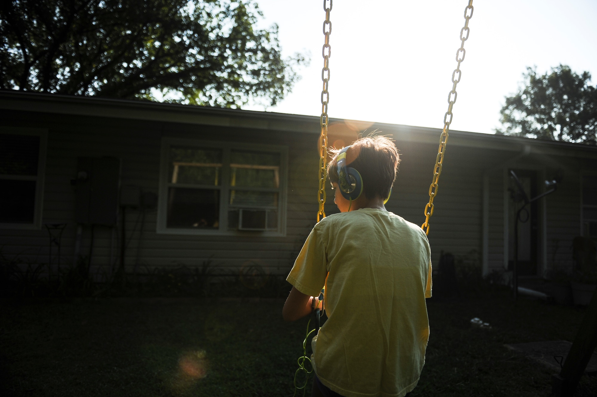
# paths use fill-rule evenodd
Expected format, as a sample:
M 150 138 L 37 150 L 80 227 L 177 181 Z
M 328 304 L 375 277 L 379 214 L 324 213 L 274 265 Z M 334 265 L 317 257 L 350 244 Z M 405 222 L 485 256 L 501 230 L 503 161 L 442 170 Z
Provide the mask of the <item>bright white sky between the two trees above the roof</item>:
M 257 0 L 259 27 L 279 26 L 282 53 L 310 55 L 275 107 L 321 114 L 322 0 Z M 331 11 L 330 117 L 442 128 L 467 0 L 336 0 Z M 597 83 L 597 0 L 475 0 L 460 69 L 453 130 L 493 134 L 504 97 L 526 68 L 567 64 Z

